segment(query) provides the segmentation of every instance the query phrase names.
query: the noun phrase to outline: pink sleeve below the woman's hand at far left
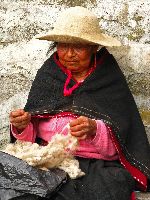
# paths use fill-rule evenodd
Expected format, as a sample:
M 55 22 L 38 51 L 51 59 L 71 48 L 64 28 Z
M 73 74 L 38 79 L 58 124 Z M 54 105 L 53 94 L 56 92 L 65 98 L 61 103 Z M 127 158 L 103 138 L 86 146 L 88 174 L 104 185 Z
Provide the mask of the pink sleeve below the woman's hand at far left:
M 28 142 L 34 142 L 36 137 L 36 129 L 33 128 L 33 124 L 30 122 L 29 125 L 24 129 L 22 133 L 18 133 L 17 129 L 11 124 L 12 135 L 18 139 Z

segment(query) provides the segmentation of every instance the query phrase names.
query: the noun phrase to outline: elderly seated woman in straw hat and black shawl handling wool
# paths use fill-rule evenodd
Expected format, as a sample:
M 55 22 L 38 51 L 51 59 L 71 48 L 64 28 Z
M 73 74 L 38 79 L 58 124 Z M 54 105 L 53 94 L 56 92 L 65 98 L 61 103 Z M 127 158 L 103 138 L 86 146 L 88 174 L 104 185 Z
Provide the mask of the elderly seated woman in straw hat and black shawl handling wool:
M 126 80 L 102 47 L 120 42 L 83 7 L 64 11 L 38 39 L 54 41 L 56 52 L 38 70 L 25 108 L 10 113 L 12 141 L 46 144 L 69 123 L 85 176 L 68 179 L 51 199 L 134 199 L 135 187 L 147 189 L 150 148 Z

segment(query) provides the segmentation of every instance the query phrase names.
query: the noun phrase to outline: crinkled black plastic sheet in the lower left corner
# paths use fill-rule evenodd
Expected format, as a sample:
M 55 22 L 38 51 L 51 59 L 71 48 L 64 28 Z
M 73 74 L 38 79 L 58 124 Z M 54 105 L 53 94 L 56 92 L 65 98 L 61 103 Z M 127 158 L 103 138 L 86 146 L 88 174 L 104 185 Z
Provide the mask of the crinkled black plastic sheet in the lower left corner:
M 66 177 L 60 169 L 43 171 L 0 152 L 0 200 L 50 198 L 65 184 Z

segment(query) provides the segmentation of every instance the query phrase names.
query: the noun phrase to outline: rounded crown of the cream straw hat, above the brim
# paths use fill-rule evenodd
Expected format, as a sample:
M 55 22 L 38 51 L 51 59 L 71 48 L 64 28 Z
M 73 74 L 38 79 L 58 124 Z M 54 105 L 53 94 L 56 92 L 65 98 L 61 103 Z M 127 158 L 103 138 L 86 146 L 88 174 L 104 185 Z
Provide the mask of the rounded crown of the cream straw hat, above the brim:
M 62 34 L 71 32 L 73 35 L 100 33 L 97 16 L 80 6 L 62 12 L 54 25 L 54 30 Z

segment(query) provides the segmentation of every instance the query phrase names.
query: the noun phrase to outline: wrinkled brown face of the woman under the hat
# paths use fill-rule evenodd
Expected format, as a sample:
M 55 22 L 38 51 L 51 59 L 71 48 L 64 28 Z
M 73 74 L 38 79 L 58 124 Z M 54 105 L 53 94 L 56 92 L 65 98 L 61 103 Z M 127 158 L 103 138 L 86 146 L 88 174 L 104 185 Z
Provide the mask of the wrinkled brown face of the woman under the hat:
M 91 57 L 97 48 L 87 44 L 58 43 L 57 53 L 61 64 L 71 72 L 80 73 L 89 69 Z

